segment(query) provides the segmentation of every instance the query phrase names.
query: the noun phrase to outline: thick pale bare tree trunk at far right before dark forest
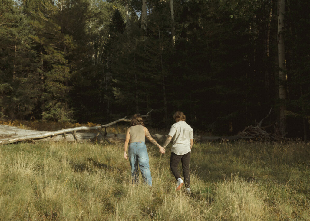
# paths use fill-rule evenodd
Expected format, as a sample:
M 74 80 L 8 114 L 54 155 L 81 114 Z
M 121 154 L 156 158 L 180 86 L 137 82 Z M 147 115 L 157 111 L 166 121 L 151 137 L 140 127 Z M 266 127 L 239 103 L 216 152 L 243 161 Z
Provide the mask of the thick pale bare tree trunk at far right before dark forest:
M 280 106 L 280 125 L 282 135 L 286 133 L 286 74 L 285 74 L 285 47 L 284 47 L 284 13 L 285 0 L 278 0 L 278 65 L 279 65 L 279 98 Z

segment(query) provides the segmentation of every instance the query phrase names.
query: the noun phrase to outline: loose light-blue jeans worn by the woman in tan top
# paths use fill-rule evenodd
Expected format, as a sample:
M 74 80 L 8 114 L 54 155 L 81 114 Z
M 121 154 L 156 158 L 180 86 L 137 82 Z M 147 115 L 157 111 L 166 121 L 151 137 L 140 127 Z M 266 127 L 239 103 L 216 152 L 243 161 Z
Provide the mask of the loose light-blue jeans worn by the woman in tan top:
M 130 143 L 128 146 L 128 157 L 131 166 L 132 183 L 138 183 L 138 165 L 142 173 L 143 180 L 152 186 L 152 176 L 148 165 L 148 151 L 144 142 Z

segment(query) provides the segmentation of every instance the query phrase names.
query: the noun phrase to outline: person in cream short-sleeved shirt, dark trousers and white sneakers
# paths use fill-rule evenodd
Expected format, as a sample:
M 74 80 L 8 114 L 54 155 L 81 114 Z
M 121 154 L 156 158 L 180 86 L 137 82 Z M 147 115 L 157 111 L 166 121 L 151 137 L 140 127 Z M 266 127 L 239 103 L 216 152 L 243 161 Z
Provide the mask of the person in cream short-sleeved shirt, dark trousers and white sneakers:
M 186 116 L 181 111 L 175 112 L 173 118 L 176 123 L 171 126 L 163 148 L 165 148 L 173 138 L 170 155 L 170 170 L 177 180 L 176 190 L 178 191 L 184 184 L 178 171 L 178 165 L 181 160 L 185 187 L 186 191 L 189 193 L 191 190 L 189 160 L 193 147 L 193 128 L 185 122 Z

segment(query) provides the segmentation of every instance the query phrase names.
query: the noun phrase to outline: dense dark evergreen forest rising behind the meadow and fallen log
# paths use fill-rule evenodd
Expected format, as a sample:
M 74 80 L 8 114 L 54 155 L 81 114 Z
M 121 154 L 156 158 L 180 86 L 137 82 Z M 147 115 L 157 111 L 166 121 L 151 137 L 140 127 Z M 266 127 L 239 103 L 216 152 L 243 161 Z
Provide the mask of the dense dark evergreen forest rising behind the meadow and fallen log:
M 288 135 L 308 139 L 309 6 L 286 1 L 283 81 L 274 0 L 3 0 L 1 118 L 103 123 L 153 109 L 149 124 L 166 127 L 181 110 L 227 134 L 285 105 Z

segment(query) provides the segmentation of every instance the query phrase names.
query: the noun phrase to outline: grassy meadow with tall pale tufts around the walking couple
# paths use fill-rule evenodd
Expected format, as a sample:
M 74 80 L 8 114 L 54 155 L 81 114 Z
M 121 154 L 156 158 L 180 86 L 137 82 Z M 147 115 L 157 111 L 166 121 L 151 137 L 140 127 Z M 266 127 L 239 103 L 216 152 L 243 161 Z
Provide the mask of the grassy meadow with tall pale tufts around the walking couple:
M 0 146 L 0 220 L 310 220 L 309 143 L 195 143 L 190 194 L 147 147 L 153 187 L 120 144 Z

